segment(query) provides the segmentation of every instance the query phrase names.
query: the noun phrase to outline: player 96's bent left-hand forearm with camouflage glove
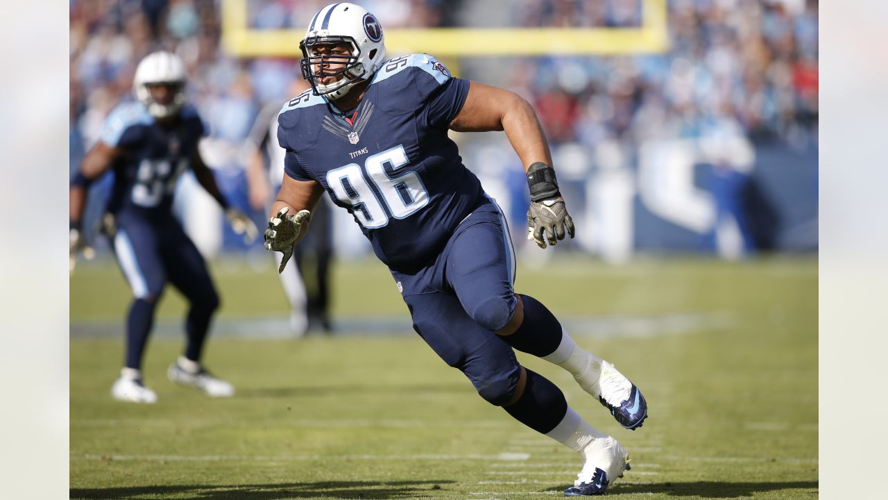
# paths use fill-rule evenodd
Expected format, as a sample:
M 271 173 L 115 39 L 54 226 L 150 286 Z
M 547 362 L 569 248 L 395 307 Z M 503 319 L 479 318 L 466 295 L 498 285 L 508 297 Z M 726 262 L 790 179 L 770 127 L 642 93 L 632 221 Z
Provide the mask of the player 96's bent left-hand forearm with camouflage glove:
M 317 181 L 297 181 L 284 174 L 281 190 L 268 214 L 265 233 L 266 250 L 283 254 L 278 272 L 283 272 L 293 254 L 293 246 L 305 238 L 312 211 L 323 193 Z

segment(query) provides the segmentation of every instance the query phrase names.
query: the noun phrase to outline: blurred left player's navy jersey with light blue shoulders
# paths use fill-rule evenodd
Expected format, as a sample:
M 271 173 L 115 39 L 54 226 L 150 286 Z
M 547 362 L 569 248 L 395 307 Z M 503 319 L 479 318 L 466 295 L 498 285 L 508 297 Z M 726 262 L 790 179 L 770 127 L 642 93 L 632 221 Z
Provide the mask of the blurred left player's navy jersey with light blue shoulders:
M 158 125 L 142 103 L 126 101 L 105 120 L 99 140 L 121 148 L 107 210 L 149 216 L 170 214 L 172 193 L 203 135 L 197 111 L 186 105 L 172 128 Z

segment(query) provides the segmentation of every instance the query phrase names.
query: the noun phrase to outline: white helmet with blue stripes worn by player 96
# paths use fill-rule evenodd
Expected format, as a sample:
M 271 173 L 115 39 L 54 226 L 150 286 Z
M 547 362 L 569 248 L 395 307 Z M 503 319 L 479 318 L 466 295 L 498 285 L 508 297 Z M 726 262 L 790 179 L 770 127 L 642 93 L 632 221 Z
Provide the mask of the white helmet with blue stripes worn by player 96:
M 319 44 L 349 45 L 351 55 L 316 55 L 313 47 Z M 379 20 L 355 4 L 332 4 L 314 14 L 299 48 L 302 50 L 302 76 L 312 84 L 315 95 L 326 95 L 330 99 L 344 96 L 358 82 L 373 77 L 385 60 L 385 36 Z M 345 62 L 341 71 L 325 75 L 342 73 L 343 77 L 332 84 L 322 85 L 317 80 L 320 75 L 314 74 L 312 66 L 322 61 Z

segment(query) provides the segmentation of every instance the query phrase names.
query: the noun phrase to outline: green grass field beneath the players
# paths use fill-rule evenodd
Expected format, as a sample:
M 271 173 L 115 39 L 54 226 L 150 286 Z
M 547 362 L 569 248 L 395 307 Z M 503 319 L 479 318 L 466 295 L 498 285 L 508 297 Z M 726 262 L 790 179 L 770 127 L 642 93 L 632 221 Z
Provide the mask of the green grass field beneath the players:
M 71 280 L 72 498 L 557 497 L 574 452 L 478 397 L 416 335 L 224 335 L 226 322 L 286 315 L 274 271 L 213 266 L 223 310 L 205 359 L 233 399 L 168 382 L 181 338 L 149 344 L 159 402 L 115 402 L 110 385 L 129 291 L 110 262 Z M 341 263 L 335 319 L 399 317 L 407 308 L 378 262 Z M 561 387 L 592 425 L 630 452 L 619 498 L 818 496 L 817 262 L 660 260 L 613 268 L 559 255 L 519 269 L 516 288 L 545 302 L 577 343 L 638 383 L 649 418 L 620 428 L 559 367 L 519 354 Z M 183 304 L 164 298 L 162 319 Z

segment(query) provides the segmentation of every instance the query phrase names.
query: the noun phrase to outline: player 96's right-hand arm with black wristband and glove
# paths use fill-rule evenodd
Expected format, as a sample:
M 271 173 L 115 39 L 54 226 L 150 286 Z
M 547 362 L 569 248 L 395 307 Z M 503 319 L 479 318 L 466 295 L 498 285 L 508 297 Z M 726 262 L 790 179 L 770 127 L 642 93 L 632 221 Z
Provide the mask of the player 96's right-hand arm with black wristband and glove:
M 527 174 L 527 238 L 541 248 L 547 242 L 555 245 L 566 232 L 574 238 L 574 221 L 561 198 L 549 143 L 529 102 L 516 93 L 471 82 L 463 108 L 449 126 L 457 132 L 504 131 Z

